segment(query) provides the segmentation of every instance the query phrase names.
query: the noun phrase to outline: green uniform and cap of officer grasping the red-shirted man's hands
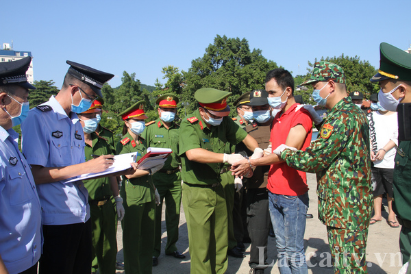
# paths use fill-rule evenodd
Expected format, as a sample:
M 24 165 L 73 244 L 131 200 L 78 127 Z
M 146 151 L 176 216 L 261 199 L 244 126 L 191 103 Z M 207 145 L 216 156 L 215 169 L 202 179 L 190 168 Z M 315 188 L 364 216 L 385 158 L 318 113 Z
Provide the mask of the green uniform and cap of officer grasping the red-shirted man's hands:
M 205 93 L 209 99 L 219 99 L 216 97 L 220 90 L 201 90 L 207 91 Z M 230 94 L 225 92 L 225 97 Z M 197 101 L 201 104 L 200 100 Z M 241 142 L 247 133 L 228 117 L 224 117 L 220 125 L 208 128 L 199 110 L 183 119 L 180 132 L 184 132 L 179 136 L 179 155 L 182 160 L 183 206 L 188 227 L 191 273 L 225 273 L 227 206 L 221 186 L 220 171 L 223 164 L 201 164 L 188 160 L 186 151 L 202 148 L 225 153 L 226 146 Z

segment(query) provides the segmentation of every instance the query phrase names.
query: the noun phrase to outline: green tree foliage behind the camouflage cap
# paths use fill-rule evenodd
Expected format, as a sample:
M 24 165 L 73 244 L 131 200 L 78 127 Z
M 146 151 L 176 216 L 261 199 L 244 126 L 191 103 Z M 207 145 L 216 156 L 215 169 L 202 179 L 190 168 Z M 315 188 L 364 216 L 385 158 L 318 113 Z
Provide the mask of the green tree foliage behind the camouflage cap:
M 370 82 L 370 78 L 377 73 L 377 70 L 368 61 L 360 60 L 360 57 L 357 55 L 355 57 L 348 57 L 343 53 L 339 57 L 321 57 L 321 61 L 338 64 L 338 66 L 344 69 L 347 93 L 360 91 L 364 94 L 364 99 L 369 99 L 371 94 L 378 92 L 378 85 Z M 317 60 L 315 60 L 315 62 L 317 62 Z M 313 67 L 314 64 L 308 62 L 308 66 Z M 306 79 L 309 77 L 310 73 L 308 73 Z M 312 88 L 310 89 L 312 90 Z

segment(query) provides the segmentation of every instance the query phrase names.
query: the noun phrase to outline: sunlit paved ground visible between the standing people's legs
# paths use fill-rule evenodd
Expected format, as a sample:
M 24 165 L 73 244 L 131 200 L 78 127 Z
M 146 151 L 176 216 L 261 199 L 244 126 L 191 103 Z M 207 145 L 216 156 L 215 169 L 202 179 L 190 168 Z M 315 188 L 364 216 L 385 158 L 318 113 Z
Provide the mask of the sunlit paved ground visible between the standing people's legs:
M 306 247 L 306 257 L 308 261 L 308 273 L 334 273 L 332 268 L 327 266 L 327 253 L 329 254 L 329 247 L 327 241 L 327 232 L 325 225 L 323 225 L 317 214 L 317 198 L 315 194 L 316 179 L 314 174 L 307 173 L 308 185 L 310 186 L 310 208 L 308 213 L 314 215 L 314 219 L 308 219 L 306 225 L 306 234 L 304 236 L 304 246 Z M 387 208 L 388 210 L 388 208 Z M 387 218 L 388 213 L 383 212 L 383 217 Z M 160 273 L 176 273 L 184 274 L 190 273 L 190 253 L 188 251 L 188 234 L 184 210 L 182 209 L 180 227 L 179 227 L 179 241 L 177 247 L 179 251 L 186 255 L 186 259 L 179 260 L 173 257 L 164 256 L 164 246 L 166 242 L 166 228 L 164 222 L 164 208 L 162 219 L 162 255 L 158 258 L 158 266 L 153 267 L 154 274 Z M 401 269 L 401 259 L 399 257 L 399 228 L 391 228 L 383 219 L 382 222 L 375 223 L 370 226 L 369 239 L 366 248 L 366 260 L 369 267 L 369 273 L 398 273 Z M 119 233 L 117 235 L 119 253 L 117 259 L 123 261 L 123 242 L 121 234 L 121 225 L 119 225 Z M 249 244 L 246 244 L 246 257 L 244 259 L 229 257 L 227 274 L 234 273 L 249 273 Z M 277 250 L 275 248 L 275 238 L 269 237 L 268 247 L 268 262 L 273 266 L 266 269 L 265 273 L 279 273 L 277 268 Z M 117 273 L 124 273 L 124 271 L 117 271 Z

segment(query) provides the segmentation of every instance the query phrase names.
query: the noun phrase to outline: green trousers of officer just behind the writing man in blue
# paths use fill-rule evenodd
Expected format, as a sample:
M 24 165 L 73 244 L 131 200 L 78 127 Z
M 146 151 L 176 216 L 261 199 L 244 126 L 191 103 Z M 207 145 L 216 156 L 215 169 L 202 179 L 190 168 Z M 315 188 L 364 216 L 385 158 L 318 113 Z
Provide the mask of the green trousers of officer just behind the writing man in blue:
M 116 273 L 116 212 L 111 200 L 103 206 L 90 205 L 92 267 L 101 274 Z

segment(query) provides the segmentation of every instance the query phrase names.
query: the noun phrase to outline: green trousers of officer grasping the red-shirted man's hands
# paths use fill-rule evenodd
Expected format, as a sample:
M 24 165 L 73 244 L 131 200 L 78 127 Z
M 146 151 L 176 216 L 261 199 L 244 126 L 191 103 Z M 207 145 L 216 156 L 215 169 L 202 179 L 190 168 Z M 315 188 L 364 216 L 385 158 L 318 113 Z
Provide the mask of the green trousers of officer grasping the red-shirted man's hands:
M 228 240 L 223 186 L 183 184 L 183 206 L 191 256 L 190 273 L 225 273 Z

